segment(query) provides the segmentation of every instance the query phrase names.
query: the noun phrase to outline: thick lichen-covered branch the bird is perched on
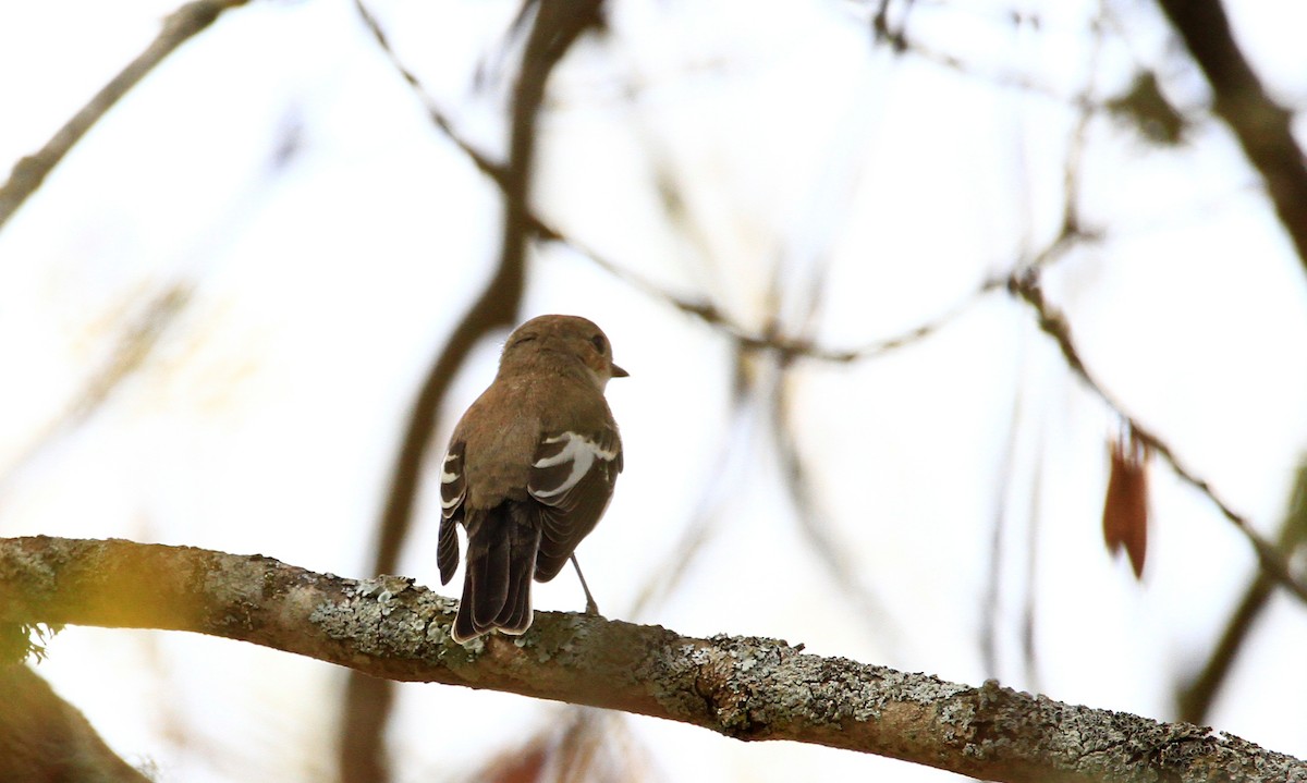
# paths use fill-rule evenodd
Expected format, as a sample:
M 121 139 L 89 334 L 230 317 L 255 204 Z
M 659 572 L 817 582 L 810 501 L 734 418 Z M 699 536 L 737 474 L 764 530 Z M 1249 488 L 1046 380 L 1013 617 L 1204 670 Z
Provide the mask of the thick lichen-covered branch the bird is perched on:
M 263 556 L 46 536 L 0 540 L 0 622 L 186 630 L 374 677 L 652 715 L 992 780 L 1303 779 L 1307 763 L 1206 728 L 805 655 L 775 639 L 681 637 L 537 612 L 467 647 L 456 603 L 401 576 L 354 580 Z

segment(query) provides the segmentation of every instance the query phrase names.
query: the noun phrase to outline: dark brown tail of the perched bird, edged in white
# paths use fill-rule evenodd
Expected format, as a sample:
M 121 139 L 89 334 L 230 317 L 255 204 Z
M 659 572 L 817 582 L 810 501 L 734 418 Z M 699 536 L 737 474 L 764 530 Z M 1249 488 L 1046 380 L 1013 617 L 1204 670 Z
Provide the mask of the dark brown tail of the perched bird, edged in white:
M 490 629 L 520 634 L 531 627 L 531 580 L 536 575 L 540 529 L 516 519 L 512 502 L 468 523 L 463 601 L 454 620 L 454 641 L 467 642 Z

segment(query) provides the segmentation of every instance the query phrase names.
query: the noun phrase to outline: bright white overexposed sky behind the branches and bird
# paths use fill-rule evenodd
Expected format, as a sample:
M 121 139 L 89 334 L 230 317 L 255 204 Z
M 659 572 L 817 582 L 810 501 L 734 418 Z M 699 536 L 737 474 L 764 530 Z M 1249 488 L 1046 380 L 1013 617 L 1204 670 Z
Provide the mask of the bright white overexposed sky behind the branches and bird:
M 869 46 L 853 5 L 618 3 L 614 42 L 578 50 L 552 82 L 538 209 L 745 328 L 765 323 L 774 275 L 786 281 L 780 312 L 802 323 L 812 276 L 829 265 L 813 323 L 821 342 L 898 335 L 1056 230 L 1068 98 L 1090 77 L 1097 5 L 1044 5 L 1029 4 L 1038 31 L 1014 31 L 1002 4 L 919 5 L 910 30 L 975 64 L 979 76 L 961 76 Z M 1120 5 L 1093 72 L 1099 94 L 1144 64 L 1172 99 L 1201 106 L 1202 82 L 1155 13 Z M 0 4 L 0 161 L 38 149 L 171 8 Z M 512 4 L 371 8 L 465 137 L 502 149 L 501 98 L 471 80 L 478 64 L 501 63 Z M 1302 106 L 1300 41 L 1286 31 L 1302 30 L 1307 18 L 1291 17 L 1307 12 L 1238 10 L 1261 73 Z M 1056 97 L 996 86 L 1012 75 Z M 298 146 L 278 167 L 288 133 Z M 1081 207 L 1107 239 L 1052 268 L 1050 297 L 1103 384 L 1273 535 L 1307 433 L 1300 264 L 1219 125 L 1159 152 L 1094 123 L 1084 166 Z M 657 176 L 680 188 L 680 222 Z M 427 123 L 350 3 L 227 13 L 105 118 L 0 231 L 0 535 L 190 544 L 367 575 L 408 405 L 490 268 L 497 220 L 494 190 Z M 997 675 L 1167 719 L 1174 680 L 1210 648 L 1249 578 L 1243 540 L 1162 465 L 1144 583 L 1108 559 L 1099 515 L 1112 418 L 1068 376 L 1031 312 L 995 293 L 912 346 L 848 366 L 800 362 L 787 380 L 821 512 L 886 610 L 859 617 L 797 532 L 762 408 L 728 420 L 727 341 L 566 250 L 537 254 L 529 276 L 524 318 L 592 318 L 633 375 L 609 387 L 626 473 L 580 548 L 610 616 L 779 637 L 972 684 Z M 60 426 L 124 324 L 176 286 L 186 305 L 141 370 L 84 424 Z M 484 388 L 497 349 L 480 349 L 451 405 Z M 1010 516 L 989 672 L 978 638 L 999 498 Z M 630 614 L 689 524 L 711 527 L 685 580 Z M 401 570 L 429 586 L 434 535 L 423 505 Z M 1019 656 L 1027 588 L 1038 681 Z M 1276 600 L 1213 722 L 1303 757 L 1307 675 L 1295 654 L 1307 613 Z M 579 609 L 579 587 L 561 578 L 536 604 Z M 325 664 L 98 629 L 68 629 L 50 652 L 42 675 L 161 780 L 314 780 L 333 762 L 342 672 Z M 435 685 L 401 694 L 399 780 L 456 779 L 559 710 Z M 625 725 L 663 779 L 944 776 L 656 720 Z

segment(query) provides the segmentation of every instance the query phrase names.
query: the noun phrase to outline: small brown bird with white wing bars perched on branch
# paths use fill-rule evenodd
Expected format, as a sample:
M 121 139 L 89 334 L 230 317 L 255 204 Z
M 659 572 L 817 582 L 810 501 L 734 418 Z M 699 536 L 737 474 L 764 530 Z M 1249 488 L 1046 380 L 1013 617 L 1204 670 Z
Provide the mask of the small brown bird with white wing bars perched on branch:
M 452 638 L 531 627 L 531 583 L 567 561 L 599 523 L 622 471 L 622 441 L 604 397 L 613 363 L 608 336 L 575 315 L 541 315 L 505 342 L 494 380 L 454 427 L 440 467 L 437 565 L 448 584 L 467 532 L 463 600 Z

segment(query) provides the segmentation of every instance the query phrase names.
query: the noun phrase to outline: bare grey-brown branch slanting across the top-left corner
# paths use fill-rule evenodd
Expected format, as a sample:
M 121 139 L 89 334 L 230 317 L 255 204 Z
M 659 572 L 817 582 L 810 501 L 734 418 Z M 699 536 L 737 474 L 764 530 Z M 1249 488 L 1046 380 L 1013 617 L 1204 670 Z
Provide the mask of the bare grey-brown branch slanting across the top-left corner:
M 91 128 L 99 118 L 105 116 L 110 108 L 136 86 L 150 71 L 158 65 L 163 58 L 173 54 L 182 46 L 204 31 L 216 18 L 229 8 L 244 5 L 247 0 L 192 0 L 182 8 L 174 10 L 163 21 L 163 29 L 154 38 L 145 51 L 127 64 L 118 76 L 105 85 L 90 103 L 73 115 L 63 128 L 46 142 L 35 154 L 21 158 L 13 166 L 9 180 L 0 186 L 0 227 L 13 217 L 13 213 L 22 207 L 27 196 L 37 192 L 46 176 L 64 159 L 68 150 L 77 144 L 86 131 Z

